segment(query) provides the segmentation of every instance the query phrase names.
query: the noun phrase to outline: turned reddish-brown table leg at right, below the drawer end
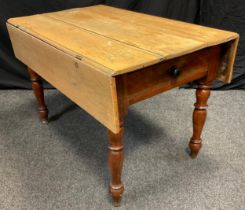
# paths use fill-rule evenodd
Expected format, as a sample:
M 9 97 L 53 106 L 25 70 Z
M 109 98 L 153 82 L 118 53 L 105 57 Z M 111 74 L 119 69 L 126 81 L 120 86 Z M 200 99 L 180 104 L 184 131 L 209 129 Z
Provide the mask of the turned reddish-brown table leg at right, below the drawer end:
M 196 158 L 202 147 L 201 134 L 207 116 L 207 101 L 210 96 L 210 84 L 200 82 L 196 90 L 196 103 L 193 112 L 193 136 L 189 143 L 191 158 Z

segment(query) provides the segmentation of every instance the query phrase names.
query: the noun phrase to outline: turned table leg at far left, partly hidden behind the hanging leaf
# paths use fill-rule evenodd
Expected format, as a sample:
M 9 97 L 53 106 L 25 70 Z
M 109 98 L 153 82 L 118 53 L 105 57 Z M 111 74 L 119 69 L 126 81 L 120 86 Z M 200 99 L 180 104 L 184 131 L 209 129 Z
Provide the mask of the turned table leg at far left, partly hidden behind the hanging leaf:
M 43 85 L 40 76 L 32 69 L 28 68 L 30 74 L 32 89 L 38 103 L 39 117 L 42 123 L 48 123 L 48 108 L 44 101 Z

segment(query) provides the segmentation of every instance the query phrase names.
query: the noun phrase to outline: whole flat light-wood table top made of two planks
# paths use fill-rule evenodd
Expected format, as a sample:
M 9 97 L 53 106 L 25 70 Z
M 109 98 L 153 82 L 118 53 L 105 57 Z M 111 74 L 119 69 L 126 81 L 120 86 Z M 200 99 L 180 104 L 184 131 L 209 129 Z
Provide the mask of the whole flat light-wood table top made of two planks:
M 12 18 L 8 23 L 109 76 L 239 37 L 233 32 L 104 5 Z

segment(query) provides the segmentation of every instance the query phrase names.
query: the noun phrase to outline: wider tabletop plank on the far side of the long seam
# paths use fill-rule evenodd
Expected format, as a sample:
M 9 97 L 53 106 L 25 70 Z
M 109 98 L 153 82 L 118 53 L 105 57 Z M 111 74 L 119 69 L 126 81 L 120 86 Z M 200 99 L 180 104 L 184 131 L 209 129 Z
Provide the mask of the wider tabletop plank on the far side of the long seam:
M 164 60 L 236 38 L 233 32 L 99 5 L 45 14 L 159 54 Z

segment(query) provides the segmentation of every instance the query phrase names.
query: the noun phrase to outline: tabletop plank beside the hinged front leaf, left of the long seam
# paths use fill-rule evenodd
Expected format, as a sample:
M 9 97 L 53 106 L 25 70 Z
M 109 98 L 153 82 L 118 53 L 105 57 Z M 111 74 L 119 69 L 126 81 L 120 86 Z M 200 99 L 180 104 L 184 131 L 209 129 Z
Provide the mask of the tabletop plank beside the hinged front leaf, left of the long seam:
M 85 59 L 108 75 L 123 73 L 161 60 L 161 56 L 57 21 L 45 15 L 10 19 L 10 24 L 73 56 Z

